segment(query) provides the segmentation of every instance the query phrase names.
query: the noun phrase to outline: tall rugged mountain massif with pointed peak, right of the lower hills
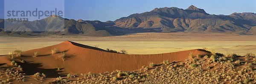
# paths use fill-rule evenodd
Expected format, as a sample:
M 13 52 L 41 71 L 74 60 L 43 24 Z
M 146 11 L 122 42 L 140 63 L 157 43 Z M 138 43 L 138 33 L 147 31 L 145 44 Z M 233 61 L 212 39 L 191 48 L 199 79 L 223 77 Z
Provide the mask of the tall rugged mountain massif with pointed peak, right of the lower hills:
M 116 21 L 122 28 L 160 28 L 161 32 L 213 32 L 248 34 L 256 26 L 256 14 L 233 13 L 230 15 L 207 14 L 204 9 L 189 6 L 155 8 L 141 14 L 131 14 Z

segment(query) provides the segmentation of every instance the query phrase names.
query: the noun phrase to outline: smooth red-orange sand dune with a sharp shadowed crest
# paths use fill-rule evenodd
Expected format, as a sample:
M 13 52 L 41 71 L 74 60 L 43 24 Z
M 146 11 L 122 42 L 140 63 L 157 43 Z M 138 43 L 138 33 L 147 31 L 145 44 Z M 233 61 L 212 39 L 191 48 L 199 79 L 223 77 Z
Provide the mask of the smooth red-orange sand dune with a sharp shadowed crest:
M 58 48 L 60 51 L 65 51 L 68 56 L 66 61 L 58 59 L 60 53 L 51 55 L 51 49 Z M 37 57 L 31 57 L 34 52 L 38 52 Z M 148 66 L 149 62 L 160 63 L 163 60 L 169 62 L 183 61 L 189 56 L 189 53 L 208 54 L 204 50 L 186 50 L 173 53 L 136 55 L 136 54 L 120 54 L 109 53 L 106 50 L 81 45 L 75 42 L 64 41 L 58 45 L 52 45 L 45 48 L 28 50 L 22 53 L 24 61 L 30 63 L 29 67 L 37 67 L 38 72 L 44 72 L 41 69 L 56 69 L 62 68 L 65 73 L 103 73 L 106 71 L 122 70 L 132 71 L 141 68 L 143 65 Z M 26 65 L 25 65 L 26 66 Z M 35 70 L 29 70 L 35 71 Z

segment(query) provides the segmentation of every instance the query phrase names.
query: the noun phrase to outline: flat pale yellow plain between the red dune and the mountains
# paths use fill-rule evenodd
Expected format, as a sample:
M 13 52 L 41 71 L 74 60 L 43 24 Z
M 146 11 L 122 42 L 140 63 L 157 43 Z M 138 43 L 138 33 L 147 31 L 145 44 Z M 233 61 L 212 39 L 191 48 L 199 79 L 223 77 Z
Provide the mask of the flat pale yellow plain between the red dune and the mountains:
M 202 47 L 219 53 L 256 53 L 255 35 L 195 34 L 195 33 L 140 33 L 125 36 L 47 36 L 47 37 L 0 37 L 0 55 L 14 49 L 23 51 L 56 45 L 63 41 L 113 50 L 127 50 L 128 54 L 156 54 Z

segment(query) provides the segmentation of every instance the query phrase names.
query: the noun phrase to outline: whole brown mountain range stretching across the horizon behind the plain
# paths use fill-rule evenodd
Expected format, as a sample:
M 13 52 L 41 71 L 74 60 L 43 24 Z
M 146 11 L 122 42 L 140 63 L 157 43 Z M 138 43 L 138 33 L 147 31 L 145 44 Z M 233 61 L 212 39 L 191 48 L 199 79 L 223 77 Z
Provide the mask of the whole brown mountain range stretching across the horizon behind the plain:
M 64 21 L 64 24 L 58 25 Z M 4 24 L 0 20 L 0 35 L 38 36 L 38 35 L 81 35 L 115 36 L 144 32 L 196 32 L 256 34 L 255 13 L 233 13 L 230 15 L 208 14 L 195 6 L 182 8 L 155 8 L 140 14 L 131 14 L 115 21 L 69 20 L 51 15 L 42 20 L 23 21 Z M 8 31 L 3 31 L 4 25 Z M 64 28 L 64 31 L 59 31 Z M 37 32 L 34 32 L 37 31 Z

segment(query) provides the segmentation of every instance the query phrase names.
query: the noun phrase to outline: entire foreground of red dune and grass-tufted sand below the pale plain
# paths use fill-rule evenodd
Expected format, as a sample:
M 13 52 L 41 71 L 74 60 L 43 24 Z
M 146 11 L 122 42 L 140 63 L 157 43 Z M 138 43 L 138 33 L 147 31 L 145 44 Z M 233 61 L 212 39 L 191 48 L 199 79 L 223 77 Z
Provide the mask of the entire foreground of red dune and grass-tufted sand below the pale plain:
M 54 48 L 58 52 L 51 53 Z M 256 83 L 254 54 L 223 55 L 207 50 L 136 55 L 64 41 L 24 51 L 21 56 L 0 56 L 0 84 Z

